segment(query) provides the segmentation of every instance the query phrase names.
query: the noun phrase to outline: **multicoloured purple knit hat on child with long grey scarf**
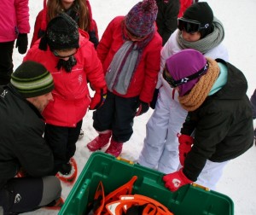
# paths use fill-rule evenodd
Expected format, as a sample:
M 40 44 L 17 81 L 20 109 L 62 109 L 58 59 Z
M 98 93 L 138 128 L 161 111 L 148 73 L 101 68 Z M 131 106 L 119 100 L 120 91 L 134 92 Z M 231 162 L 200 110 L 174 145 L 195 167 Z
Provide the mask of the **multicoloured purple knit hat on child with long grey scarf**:
M 154 0 L 143 0 L 133 6 L 125 16 L 125 26 L 137 37 L 148 36 L 154 31 L 154 21 L 157 15 L 157 5 Z

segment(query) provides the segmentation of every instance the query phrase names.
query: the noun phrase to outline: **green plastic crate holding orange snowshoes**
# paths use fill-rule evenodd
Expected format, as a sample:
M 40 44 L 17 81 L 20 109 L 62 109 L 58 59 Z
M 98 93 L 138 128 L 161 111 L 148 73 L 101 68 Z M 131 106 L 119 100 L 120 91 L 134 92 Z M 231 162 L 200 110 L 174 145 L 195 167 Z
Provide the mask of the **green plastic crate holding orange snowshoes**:
M 163 173 L 154 171 L 112 155 L 95 152 L 84 166 L 77 182 L 61 207 L 59 215 L 86 214 L 98 183 L 102 181 L 105 195 L 137 176 L 133 194 L 146 195 L 158 200 L 175 215 L 233 215 L 234 204 L 229 196 L 212 190 L 186 185 L 171 192 L 162 181 Z

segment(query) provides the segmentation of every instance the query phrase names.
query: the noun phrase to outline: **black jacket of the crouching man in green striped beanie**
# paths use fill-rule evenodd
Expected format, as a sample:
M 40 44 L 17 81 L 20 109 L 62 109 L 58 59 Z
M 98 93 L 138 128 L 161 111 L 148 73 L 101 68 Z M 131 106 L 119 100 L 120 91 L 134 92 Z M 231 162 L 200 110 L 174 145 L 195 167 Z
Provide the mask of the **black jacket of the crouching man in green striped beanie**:
M 0 89 L 0 189 L 22 167 L 29 176 L 53 170 L 41 114 L 10 85 Z

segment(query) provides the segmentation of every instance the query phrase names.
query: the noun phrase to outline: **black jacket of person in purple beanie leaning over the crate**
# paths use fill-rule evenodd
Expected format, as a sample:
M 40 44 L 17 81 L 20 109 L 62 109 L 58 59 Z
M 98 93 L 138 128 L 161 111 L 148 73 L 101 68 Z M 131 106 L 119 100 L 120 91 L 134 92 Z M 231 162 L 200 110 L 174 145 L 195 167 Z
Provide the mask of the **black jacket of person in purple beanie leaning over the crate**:
M 184 162 L 184 174 L 196 181 L 207 160 L 235 159 L 253 146 L 253 110 L 246 95 L 247 79 L 230 63 L 227 83 L 208 96 L 200 108 L 189 112 L 182 134 L 195 130 L 194 146 Z

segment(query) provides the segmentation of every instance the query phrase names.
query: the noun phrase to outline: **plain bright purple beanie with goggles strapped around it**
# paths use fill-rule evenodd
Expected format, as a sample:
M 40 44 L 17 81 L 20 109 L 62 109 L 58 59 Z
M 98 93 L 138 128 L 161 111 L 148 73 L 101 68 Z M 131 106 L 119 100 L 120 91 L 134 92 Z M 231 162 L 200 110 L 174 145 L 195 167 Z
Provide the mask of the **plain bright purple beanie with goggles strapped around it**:
M 195 49 L 183 49 L 166 60 L 166 68 L 176 81 L 199 72 L 206 65 L 206 57 Z M 184 96 L 192 90 L 199 79 L 200 77 L 178 85 L 179 96 Z

